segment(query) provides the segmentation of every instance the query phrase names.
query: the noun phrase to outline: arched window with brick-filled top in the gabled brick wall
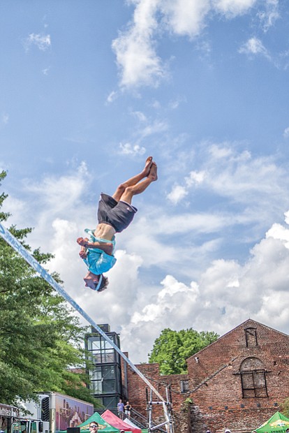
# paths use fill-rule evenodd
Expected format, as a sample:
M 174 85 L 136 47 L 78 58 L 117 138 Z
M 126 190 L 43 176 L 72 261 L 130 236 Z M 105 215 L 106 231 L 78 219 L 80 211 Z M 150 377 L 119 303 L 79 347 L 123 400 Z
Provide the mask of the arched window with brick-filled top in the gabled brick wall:
M 246 358 L 240 365 L 243 398 L 268 397 L 266 371 L 258 358 Z

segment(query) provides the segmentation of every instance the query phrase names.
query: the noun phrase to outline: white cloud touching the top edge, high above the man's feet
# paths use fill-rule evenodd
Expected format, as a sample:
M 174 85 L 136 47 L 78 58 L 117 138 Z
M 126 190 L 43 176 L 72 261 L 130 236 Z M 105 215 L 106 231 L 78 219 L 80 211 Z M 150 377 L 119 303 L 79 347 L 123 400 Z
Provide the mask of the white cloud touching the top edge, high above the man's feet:
M 120 86 L 124 88 L 157 87 L 160 80 L 168 77 L 168 65 L 157 54 L 157 41 L 164 32 L 196 38 L 207 25 L 209 14 L 231 19 L 248 12 L 256 0 L 131 0 L 131 3 L 135 5 L 133 19 L 112 42 Z

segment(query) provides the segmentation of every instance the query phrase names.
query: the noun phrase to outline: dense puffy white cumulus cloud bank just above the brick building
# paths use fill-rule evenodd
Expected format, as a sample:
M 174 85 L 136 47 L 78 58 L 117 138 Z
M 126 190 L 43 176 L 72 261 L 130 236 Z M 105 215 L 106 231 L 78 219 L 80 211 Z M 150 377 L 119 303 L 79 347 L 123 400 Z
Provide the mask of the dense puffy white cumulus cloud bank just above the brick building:
M 283 238 L 289 239 L 288 227 Z M 154 296 L 154 302 L 135 312 L 131 323 L 121 329 L 123 346 L 135 361 L 144 360 L 144 346 L 152 348 L 164 328 L 214 330 L 221 335 L 251 317 L 286 330 L 289 320 L 289 250 L 269 235 L 256 244 L 244 265 L 234 260 L 214 260 L 198 281 L 186 285 L 168 274 Z M 274 272 L 272 270 L 274 269 Z M 283 306 L 283 308 L 281 307 Z M 135 339 L 140 339 L 138 346 Z M 147 352 L 149 351 L 147 349 Z

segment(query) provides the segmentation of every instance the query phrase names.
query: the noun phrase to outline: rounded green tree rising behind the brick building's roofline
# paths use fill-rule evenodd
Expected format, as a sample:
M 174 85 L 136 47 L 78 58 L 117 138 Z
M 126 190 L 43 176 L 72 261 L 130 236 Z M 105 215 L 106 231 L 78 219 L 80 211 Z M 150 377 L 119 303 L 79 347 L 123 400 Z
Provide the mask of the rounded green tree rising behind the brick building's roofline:
M 173 331 L 166 328 L 154 342 L 149 363 L 158 362 L 161 374 L 185 374 L 186 359 L 217 338 L 216 332 L 198 332 L 192 328 Z

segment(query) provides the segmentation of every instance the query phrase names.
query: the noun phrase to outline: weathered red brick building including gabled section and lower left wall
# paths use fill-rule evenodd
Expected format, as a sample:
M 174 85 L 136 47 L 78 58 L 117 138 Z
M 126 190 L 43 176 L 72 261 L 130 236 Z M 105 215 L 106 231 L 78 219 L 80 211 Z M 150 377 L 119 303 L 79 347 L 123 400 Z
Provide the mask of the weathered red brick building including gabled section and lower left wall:
M 289 337 L 251 319 L 187 360 L 188 374 L 160 376 L 158 364 L 137 365 L 165 395 L 170 385 L 176 433 L 251 432 L 289 397 Z M 128 398 L 146 411 L 145 384 L 126 370 Z M 153 406 L 153 418 L 162 416 Z

